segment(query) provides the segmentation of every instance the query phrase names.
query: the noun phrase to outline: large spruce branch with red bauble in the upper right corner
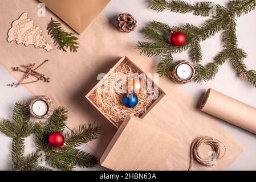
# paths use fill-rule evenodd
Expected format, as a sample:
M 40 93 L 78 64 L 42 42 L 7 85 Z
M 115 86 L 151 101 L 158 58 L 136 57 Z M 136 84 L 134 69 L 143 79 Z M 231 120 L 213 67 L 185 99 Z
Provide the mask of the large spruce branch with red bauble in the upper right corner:
M 236 20 L 242 14 L 255 10 L 256 0 L 230 1 L 228 7 L 213 5 L 212 2 L 197 2 L 193 5 L 181 0 L 151 0 L 151 9 L 156 11 L 168 10 L 174 13 L 193 13 L 197 16 L 210 16 L 209 11 L 216 7 L 216 15 L 211 16 L 200 26 L 186 23 L 183 27 L 170 27 L 166 23 L 152 21 L 145 27 L 143 33 L 153 42 L 138 42 L 136 48 L 145 56 L 160 56 L 157 72 L 160 76 L 170 76 L 172 67 L 172 54 L 181 53 L 190 48 L 190 58 L 194 63 L 196 74 L 194 81 L 202 84 L 204 81 L 213 80 L 218 72 L 218 67 L 229 60 L 238 75 L 246 77 L 256 87 L 255 71 L 248 71 L 243 60 L 246 52 L 238 48 L 236 35 Z M 166 34 L 172 30 L 179 30 L 186 35 L 186 43 L 175 47 L 166 42 Z M 202 52 L 200 43 L 223 31 L 222 43 L 224 49 L 214 57 L 213 63 L 202 65 Z

